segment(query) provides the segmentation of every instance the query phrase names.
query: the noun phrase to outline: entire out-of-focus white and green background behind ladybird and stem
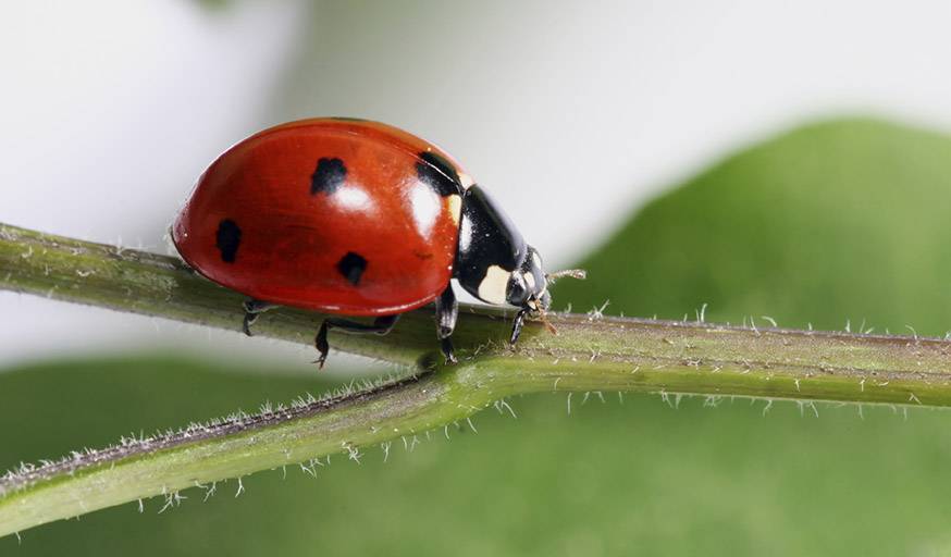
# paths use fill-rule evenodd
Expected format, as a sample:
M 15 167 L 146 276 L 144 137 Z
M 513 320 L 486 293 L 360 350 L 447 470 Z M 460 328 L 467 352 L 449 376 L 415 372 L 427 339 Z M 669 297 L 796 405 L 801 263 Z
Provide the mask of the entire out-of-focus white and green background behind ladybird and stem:
M 231 144 L 354 115 L 443 146 L 553 267 L 588 267 L 559 309 L 941 335 L 949 21 L 937 1 L 21 2 L 0 18 L 0 222 L 165 251 Z M 307 347 L 0 307 L 0 469 L 385 370 L 335 355 L 316 377 Z M 951 550 L 947 413 L 588 398 L 0 554 Z

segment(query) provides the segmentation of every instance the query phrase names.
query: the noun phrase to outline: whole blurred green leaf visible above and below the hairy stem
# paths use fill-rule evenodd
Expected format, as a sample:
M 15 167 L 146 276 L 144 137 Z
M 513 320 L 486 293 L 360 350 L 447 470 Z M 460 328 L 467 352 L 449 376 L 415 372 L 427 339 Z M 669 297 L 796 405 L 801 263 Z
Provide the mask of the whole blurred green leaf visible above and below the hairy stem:
M 608 312 L 878 331 L 949 325 L 951 139 L 872 121 L 808 126 L 644 208 L 566 281 Z M 0 374 L 0 468 L 330 385 L 156 357 Z M 939 411 L 563 395 L 368 451 L 0 539 L 7 555 L 803 555 L 951 548 Z M 670 399 L 672 406 L 675 400 Z M 802 411 L 802 414 L 801 414 Z M 14 553 L 15 552 L 15 553 Z

